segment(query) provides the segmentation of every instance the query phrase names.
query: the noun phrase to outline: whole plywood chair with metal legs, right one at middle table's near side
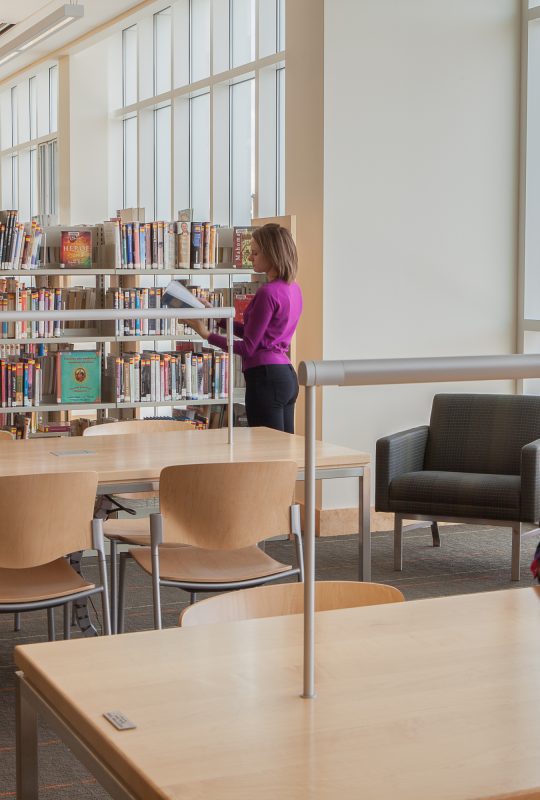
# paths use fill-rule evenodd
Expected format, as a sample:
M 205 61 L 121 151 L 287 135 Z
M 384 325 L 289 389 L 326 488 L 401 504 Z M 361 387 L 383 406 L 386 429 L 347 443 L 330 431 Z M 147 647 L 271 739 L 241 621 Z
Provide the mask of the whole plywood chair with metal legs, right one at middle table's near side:
M 150 515 L 151 547 L 132 550 L 152 576 L 154 627 L 161 628 L 160 587 L 221 592 L 291 575 L 303 579 L 294 461 L 167 467 L 159 482 L 159 514 Z M 270 558 L 257 545 L 295 537 L 297 566 Z M 175 545 L 163 547 L 161 545 Z M 178 545 L 184 545 L 179 547 Z M 120 559 L 119 630 L 123 630 L 125 558 Z

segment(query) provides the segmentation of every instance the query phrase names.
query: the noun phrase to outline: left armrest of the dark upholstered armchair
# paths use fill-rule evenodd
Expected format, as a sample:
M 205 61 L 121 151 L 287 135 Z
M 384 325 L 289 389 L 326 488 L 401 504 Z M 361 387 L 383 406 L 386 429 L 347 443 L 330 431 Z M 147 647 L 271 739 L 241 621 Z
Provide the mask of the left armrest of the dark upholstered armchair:
M 393 433 L 377 441 L 375 509 L 389 511 L 388 488 L 398 475 L 418 472 L 424 467 L 428 425 Z

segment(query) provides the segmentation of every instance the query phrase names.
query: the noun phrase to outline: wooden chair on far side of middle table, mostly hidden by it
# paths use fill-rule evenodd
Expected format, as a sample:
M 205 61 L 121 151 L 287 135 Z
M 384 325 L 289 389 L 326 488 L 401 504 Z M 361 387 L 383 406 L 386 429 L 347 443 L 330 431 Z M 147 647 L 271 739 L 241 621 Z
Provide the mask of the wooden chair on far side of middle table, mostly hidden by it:
M 169 419 L 130 419 L 120 422 L 108 422 L 104 425 L 92 425 L 85 428 L 83 436 L 124 436 L 144 433 L 162 433 L 167 431 L 193 430 L 193 425 L 182 420 Z M 132 494 L 117 494 L 109 499 L 120 509 L 133 511 L 124 506 L 129 500 L 145 500 L 157 497 L 157 492 L 136 492 Z M 118 502 L 121 501 L 121 502 Z M 134 513 L 134 512 L 133 512 Z M 118 546 L 150 545 L 150 528 L 148 517 L 140 519 L 108 519 L 103 532 L 111 546 L 111 624 L 112 631 L 117 630 L 117 597 L 118 597 Z

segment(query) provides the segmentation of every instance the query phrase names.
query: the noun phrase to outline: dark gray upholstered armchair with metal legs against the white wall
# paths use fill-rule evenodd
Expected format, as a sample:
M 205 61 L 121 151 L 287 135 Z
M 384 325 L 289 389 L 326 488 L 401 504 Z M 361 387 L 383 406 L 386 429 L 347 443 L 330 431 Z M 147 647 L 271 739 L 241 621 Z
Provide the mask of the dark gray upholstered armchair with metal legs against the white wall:
M 521 536 L 540 519 L 540 397 L 438 394 L 429 426 L 377 442 L 375 507 L 395 514 L 394 568 L 404 519 L 512 528 L 512 580 Z

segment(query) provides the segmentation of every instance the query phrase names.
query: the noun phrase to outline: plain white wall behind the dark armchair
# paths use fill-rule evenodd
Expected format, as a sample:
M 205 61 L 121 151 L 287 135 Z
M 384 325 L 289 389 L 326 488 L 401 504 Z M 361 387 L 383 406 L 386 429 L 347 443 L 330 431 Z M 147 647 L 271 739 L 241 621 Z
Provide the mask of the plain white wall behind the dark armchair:
M 513 352 L 518 78 L 518 0 L 325 3 L 324 358 Z M 326 390 L 323 439 L 374 453 L 458 388 L 512 385 Z

